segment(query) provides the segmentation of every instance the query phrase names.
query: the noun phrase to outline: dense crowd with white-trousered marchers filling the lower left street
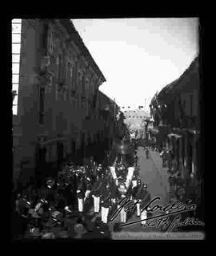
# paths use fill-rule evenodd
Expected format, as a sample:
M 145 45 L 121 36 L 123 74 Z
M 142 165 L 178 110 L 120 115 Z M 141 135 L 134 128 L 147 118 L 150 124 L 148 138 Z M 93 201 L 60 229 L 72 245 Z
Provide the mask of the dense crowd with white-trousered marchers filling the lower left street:
M 14 192 L 13 237 L 109 238 L 109 217 L 118 209 L 118 201 L 123 197 L 140 200 L 136 209 L 143 218 L 146 212 L 140 213 L 140 207 L 146 193 L 136 164 L 117 161 L 105 167 L 92 160 L 83 166 L 69 162 L 44 186 L 38 188 L 33 182 Z M 128 217 L 130 213 L 122 209 L 120 222 Z

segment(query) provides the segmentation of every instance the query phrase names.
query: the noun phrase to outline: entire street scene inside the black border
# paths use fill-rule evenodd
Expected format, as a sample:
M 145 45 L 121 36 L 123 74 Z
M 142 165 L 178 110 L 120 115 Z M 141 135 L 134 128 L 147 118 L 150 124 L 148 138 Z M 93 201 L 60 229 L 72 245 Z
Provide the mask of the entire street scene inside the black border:
M 9 23 L 11 238 L 203 229 L 199 18 Z

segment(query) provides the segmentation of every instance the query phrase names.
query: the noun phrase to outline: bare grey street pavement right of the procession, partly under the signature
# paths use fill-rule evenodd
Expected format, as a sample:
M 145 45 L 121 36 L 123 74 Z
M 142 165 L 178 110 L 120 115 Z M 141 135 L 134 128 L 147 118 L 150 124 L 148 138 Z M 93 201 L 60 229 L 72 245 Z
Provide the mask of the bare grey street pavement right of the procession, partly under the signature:
M 160 197 L 160 200 L 155 201 L 152 205 L 166 205 L 169 198 L 169 183 L 167 168 L 162 168 L 162 158 L 159 156 L 159 152 L 150 150 L 150 157 L 146 159 L 146 152 L 144 148 L 138 148 L 138 166 L 139 166 L 139 177 L 142 183 L 147 183 L 148 190 L 151 195 L 151 199 L 154 197 Z M 153 213 L 153 216 L 159 215 L 160 211 Z M 114 222 L 119 222 L 119 218 L 110 223 L 110 230 L 114 226 Z M 127 219 L 127 222 L 138 221 L 140 217 L 137 217 L 136 211 L 134 214 Z M 158 228 L 150 226 L 141 226 L 140 222 L 122 227 L 122 231 L 146 231 L 146 232 L 158 232 Z

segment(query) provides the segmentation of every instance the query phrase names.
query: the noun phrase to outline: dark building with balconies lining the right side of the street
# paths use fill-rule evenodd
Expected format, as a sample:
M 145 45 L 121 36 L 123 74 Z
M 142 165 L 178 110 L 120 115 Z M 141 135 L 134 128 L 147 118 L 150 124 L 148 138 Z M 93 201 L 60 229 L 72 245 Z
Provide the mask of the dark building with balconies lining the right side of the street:
M 182 177 L 202 181 L 199 58 L 173 83 L 154 95 L 151 115 L 158 128 L 158 143 L 170 148 Z M 170 135 L 169 135 L 170 133 Z

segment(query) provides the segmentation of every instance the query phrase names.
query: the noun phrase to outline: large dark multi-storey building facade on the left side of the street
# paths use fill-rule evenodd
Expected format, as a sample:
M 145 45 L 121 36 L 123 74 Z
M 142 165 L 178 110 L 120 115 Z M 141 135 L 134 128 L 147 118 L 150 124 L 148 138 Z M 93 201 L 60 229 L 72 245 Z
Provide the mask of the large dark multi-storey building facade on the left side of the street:
M 83 120 L 97 116 L 98 87 L 106 79 L 70 19 L 21 24 L 13 149 L 14 180 L 25 182 L 58 170 L 68 157 L 82 160 L 95 137 Z

